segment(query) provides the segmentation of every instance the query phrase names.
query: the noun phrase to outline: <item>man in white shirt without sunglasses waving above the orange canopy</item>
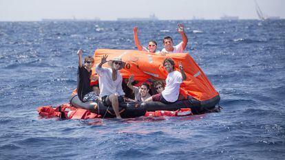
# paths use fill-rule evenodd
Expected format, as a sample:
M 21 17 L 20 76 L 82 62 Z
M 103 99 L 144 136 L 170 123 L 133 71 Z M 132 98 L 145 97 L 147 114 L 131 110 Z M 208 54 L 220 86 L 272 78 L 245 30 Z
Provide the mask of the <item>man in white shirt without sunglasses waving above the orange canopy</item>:
M 173 46 L 172 38 L 170 36 L 166 36 L 165 38 L 163 38 L 163 45 L 165 48 L 161 50 L 162 53 L 171 54 L 184 52 L 184 49 L 186 48 L 188 43 L 188 38 L 184 32 L 184 25 L 182 23 L 178 23 L 177 31 L 182 36 L 182 42 L 180 42 L 176 46 Z

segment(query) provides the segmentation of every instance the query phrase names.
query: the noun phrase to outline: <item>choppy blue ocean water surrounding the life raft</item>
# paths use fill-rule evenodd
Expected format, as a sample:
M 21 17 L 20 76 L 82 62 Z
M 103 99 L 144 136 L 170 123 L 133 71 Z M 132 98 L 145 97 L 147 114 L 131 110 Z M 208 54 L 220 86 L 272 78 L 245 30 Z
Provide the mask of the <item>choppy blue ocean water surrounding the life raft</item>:
M 0 22 L 0 159 L 284 159 L 285 21 L 182 21 L 186 51 L 220 93 L 220 113 L 58 119 L 39 106 L 69 101 L 77 54 L 136 49 L 180 21 Z

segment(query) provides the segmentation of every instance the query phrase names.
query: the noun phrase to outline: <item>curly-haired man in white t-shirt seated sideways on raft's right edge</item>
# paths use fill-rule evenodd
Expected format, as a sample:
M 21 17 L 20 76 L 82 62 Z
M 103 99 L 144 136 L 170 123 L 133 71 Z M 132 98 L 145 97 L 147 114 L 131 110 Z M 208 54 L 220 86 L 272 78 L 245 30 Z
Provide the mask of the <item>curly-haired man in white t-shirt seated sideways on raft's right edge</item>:
M 165 58 L 163 61 L 163 66 L 168 72 L 167 78 L 165 80 L 165 90 L 163 90 L 162 93 L 152 95 L 150 98 L 147 98 L 145 102 L 158 101 L 169 104 L 178 100 L 180 84 L 183 80 L 186 80 L 186 75 L 184 73 L 181 62 L 178 62 L 180 72 L 174 70 L 174 65 L 175 64 L 172 58 Z

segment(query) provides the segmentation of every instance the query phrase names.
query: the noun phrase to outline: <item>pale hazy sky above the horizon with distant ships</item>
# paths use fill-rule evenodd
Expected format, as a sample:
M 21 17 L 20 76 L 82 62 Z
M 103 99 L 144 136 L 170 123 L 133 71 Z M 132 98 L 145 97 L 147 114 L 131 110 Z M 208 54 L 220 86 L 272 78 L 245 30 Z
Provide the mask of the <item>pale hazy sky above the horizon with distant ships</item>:
M 257 0 L 267 16 L 285 18 L 284 0 Z M 257 19 L 254 0 L 0 0 L 0 21 L 148 17 L 158 19 Z

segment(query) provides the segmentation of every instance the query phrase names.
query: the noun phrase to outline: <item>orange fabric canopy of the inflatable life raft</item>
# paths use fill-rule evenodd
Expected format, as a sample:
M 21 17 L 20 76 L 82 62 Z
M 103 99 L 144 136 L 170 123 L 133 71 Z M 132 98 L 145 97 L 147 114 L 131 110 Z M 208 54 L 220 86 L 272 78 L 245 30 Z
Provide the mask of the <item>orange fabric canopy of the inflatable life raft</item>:
M 180 87 L 180 94 L 184 98 L 195 98 L 201 104 L 215 99 L 215 102 L 220 100 L 219 93 L 204 74 L 202 69 L 197 65 L 193 58 L 188 53 L 167 54 L 167 56 L 160 56 L 148 52 L 137 50 L 119 50 L 119 49 L 96 49 L 94 52 L 94 66 L 92 67 L 92 75 L 94 76 L 96 64 L 101 62 L 103 55 L 107 54 L 107 60 L 114 57 L 120 57 L 126 65 L 120 70 L 123 78 L 129 78 L 134 74 L 134 80 L 145 82 L 147 80 L 165 80 L 167 78 L 167 71 L 162 65 L 163 60 L 169 57 L 175 61 L 175 69 L 179 70 L 178 62 L 181 61 L 187 80 L 184 80 Z M 103 67 L 108 67 L 107 63 Z

